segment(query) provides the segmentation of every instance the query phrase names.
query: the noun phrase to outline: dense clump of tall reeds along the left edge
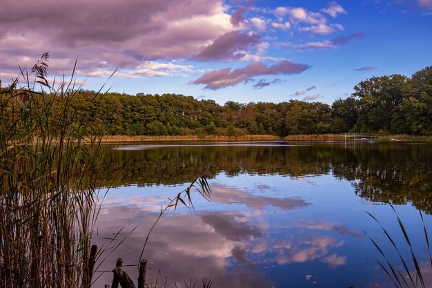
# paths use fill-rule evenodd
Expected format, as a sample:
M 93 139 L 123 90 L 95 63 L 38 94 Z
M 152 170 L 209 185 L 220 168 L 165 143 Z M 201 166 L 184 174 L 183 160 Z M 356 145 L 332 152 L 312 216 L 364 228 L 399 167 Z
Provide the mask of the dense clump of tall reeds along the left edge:
M 48 83 L 48 61 L 0 87 L 0 287 L 91 285 L 100 137 L 81 144 L 79 89 Z

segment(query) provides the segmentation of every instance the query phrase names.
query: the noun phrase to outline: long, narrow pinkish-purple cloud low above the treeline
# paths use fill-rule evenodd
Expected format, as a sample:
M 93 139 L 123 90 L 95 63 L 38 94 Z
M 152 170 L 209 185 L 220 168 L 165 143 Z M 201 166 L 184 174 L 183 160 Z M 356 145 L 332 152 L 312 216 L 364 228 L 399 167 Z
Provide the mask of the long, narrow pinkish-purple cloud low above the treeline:
M 298 74 L 308 68 L 311 68 L 311 66 L 307 64 L 295 64 L 286 60 L 269 67 L 261 62 L 257 62 L 248 64 L 245 68 L 237 68 L 235 70 L 224 68 L 211 71 L 193 81 L 193 84 L 205 84 L 204 88 L 216 90 L 226 86 L 234 86 L 257 75 Z

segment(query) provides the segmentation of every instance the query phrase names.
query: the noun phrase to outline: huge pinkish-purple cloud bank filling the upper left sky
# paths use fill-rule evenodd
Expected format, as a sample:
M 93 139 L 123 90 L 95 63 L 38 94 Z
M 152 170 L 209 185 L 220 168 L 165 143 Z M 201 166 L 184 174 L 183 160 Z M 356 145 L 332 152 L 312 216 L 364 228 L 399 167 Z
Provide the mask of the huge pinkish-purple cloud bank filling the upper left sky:
M 61 72 L 79 55 L 81 76 L 135 69 L 147 60 L 187 59 L 235 29 L 226 10 L 222 0 L 6 1 L 0 59 L 7 61 L 0 69 L 32 66 L 47 51 L 50 70 Z

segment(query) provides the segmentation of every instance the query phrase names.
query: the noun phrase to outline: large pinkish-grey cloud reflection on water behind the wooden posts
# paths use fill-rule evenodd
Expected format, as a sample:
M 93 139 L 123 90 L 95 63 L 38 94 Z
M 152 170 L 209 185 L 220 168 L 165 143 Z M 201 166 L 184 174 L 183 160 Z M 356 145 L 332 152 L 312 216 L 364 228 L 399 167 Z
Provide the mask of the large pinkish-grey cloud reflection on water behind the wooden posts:
M 157 209 L 160 207 L 155 207 L 155 211 Z M 109 238 L 112 232 L 119 231 L 119 227 L 126 226 L 124 231 L 130 231 L 129 229 L 133 229 L 132 225 L 134 225 L 137 229 L 118 248 L 118 253 L 111 253 L 108 256 L 100 270 L 110 271 L 111 263 L 115 262 L 120 253 L 125 260 L 135 262 L 135 259 L 139 257 L 148 228 L 157 218 L 159 211 L 150 213 L 148 209 L 142 209 L 142 206 L 119 206 L 118 204 L 108 207 L 105 205 L 102 210 L 101 213 L 104 213 L 105 217 L 98 219 L 99 237 L 95 239 L 99 246 L 106 245 L 108 242 L 102 238 Z M 112 211 L 121 211 L 121 217 L 110 217 Z M 233 258 L 241 262 L 240 265 L 247 265 L 251 261 L 248 260 L 247 255 L 248 239 L 259 239 L 259 236 L 262 235 L 262 228 L 256 226 L 258 223 L 248 220 L 242 213 L 231 213 L 230 211 L 224 211 L 222 215 L 207 213 L 207 211 L 199 213 L 199 216 L 191 215 L 191 213 L 168 214 L 164 215 L 166 221 L 158 223 L 157 229 L 152 232 L 152 237 L 146 246 L 146 257 L 151 259 L 154 265 L 147 271 L 149 278 L 156 278 L 157 273 L 160 272 L 162 275 L 169 275 L 168 285 L 175 282 L 183 283 L 185 275 L 197 277 L 211 275 L 215 279 L 213 281 L 214 285 L 217 285 L 215 287 L 242 288 L 253 287 L 253 285 L 259 287 L 271 285 L 269 280 L 263 279 L 262 275 L 257 275 L 257 273 L 229 273 L 226 271 L 227 263 Z M 125 225 L 126 222 L 128 224 Z M 184 225 L 186 222 L 187 227 Z M 246 254 L 243 251 L 246 251 Z M 178 265 L 179 262 L 181 265 Z M 234 265 L 238 267 L 237 264 Z M 131 273 L 131 277 L 137 277 L 133 271 Z M 95 286 L 103 287 L 107 281 L 111 280 L 102 275 L 95 281 Z

